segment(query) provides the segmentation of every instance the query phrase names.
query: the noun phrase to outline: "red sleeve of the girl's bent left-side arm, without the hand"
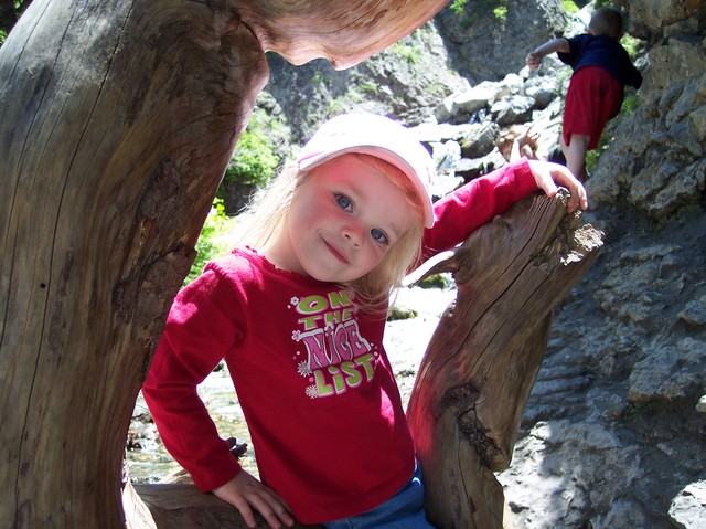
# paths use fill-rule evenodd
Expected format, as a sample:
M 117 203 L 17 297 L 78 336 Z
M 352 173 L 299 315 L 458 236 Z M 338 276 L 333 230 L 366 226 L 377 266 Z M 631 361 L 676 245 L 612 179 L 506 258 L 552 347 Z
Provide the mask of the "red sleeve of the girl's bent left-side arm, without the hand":
M 217 277 L 207 273 L 179 293 L 142 384 L 164 447 L 204 493 L 240 469 L 196 392 L 224 358 L 225 337 L 236 335 L 218 292 Z

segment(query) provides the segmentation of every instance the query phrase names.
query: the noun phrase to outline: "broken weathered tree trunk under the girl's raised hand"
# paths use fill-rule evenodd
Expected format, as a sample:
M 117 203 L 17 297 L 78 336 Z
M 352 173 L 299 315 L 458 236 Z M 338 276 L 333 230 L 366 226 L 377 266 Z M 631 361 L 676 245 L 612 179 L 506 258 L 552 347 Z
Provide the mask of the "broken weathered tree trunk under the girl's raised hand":
M 429 520 L 500 529 L 507 468 L 539 370 L 552 309 L 602 245 L 565 213 L 565 197 L 533 195 L 474 232 L 429 273 L 453 271 L 457 300 L 421 361 L 407 419 Z

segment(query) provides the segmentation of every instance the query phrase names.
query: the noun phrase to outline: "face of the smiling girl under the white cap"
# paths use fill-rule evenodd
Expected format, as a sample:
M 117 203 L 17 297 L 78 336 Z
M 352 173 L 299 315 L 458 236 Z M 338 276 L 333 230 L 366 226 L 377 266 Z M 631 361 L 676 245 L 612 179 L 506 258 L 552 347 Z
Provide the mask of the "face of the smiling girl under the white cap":
M 284 229 L 263 253 L 280 268 L 347 283 L 375 268 L 417 218 L 385 172 L 342 155 L 299 186 Z

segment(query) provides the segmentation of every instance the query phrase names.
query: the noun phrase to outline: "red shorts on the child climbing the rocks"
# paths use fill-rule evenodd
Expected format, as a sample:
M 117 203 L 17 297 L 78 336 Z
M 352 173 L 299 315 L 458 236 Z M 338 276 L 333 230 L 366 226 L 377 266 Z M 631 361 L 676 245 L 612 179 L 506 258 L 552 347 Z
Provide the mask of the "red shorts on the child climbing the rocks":
M 622 85 L 606 70 L 585 66 L 574 72 L 564 106 L 564 142 L 569 145 L 573 134 L 581 134 L 591 138 L 588 150 L 598 147 L 606 124 L 620 112 L 622 98 Z

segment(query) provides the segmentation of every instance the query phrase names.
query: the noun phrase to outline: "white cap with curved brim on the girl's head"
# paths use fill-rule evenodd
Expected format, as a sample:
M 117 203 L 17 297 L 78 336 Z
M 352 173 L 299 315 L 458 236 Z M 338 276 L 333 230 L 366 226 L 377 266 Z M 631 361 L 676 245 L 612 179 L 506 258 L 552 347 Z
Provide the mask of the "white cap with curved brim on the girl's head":
M 342 114 L 324 123 L 303 146 L 297 166 L 307 171 L 346 152 L 392 163 L 411 181 L 424 207 L 424 225 L 434 225 L 429 184 L 435 166 L 427 149 L 397 121 L 375 114 Z

